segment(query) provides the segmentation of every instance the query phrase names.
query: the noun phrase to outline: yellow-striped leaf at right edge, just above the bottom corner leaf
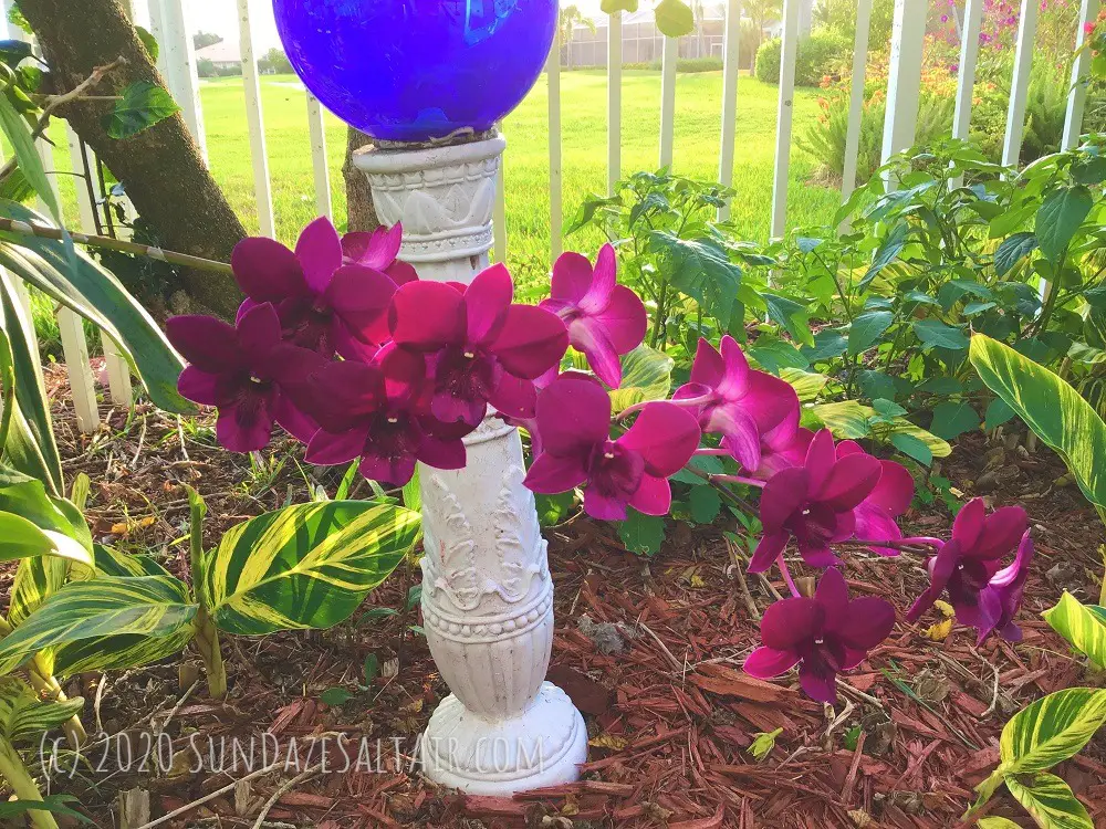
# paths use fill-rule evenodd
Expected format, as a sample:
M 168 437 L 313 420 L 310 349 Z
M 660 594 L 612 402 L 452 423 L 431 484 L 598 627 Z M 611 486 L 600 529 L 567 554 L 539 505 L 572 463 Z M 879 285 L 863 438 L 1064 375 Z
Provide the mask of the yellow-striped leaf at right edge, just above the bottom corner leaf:
M 1030 703 L 1002 730 L 999 773 L 1046 772 L 1078 753 L 1106 723 L 1106 689 L 1068 688 Z

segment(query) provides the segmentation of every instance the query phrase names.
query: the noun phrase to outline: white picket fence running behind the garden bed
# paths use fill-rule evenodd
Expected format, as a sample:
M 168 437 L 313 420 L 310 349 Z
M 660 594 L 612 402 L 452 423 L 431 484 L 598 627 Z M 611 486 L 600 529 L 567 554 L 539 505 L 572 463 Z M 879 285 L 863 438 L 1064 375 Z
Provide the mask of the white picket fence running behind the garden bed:
M 6 7 L 12 0 L 4 0 Z M 206 157 L 206 138 L 204 130 L 204 113 L 199 98 L 199 81 L 196 73 L 196 56 L 191 34 L 197 31 L 197 21 L 189 20 L 187 0 L 132 0 L 137 3 L 148 3 L 150 30 L 160 44 L 158 69 L 174 97 L 180 104 L 185 120 L 199 144 Z M 239 11 L 239 32 L 242 54 L 242 83 L 246 90 L 246 120 L 249 126 L 250 147 L 253 165 L 253 180 L 258 206 L 258 220 L 261 232 L 273 234 L 275 225 L 269 162 L 265 153 L 264 116 L 258 82 L 257 55 L 253 49 L 253 36 L 250 23 L 250 0 L 237 0 Z M 854 44 L 853 78 L 848 112 L 848 133 L 845 150 L 844 180 L 842 198 L 845 199 L 856 186 L 856 164 L 859 148 L 860 116 L 863 109 L 864 73 L 868 54 L 868 21 L 872 14 L 872 0 L 856 0 L 857 31 Z M 783 4 L 783 50 L 782 71 L 779 87 L 779 108 L 775 137 L 775 167 L 773 171 L 771 234 L 782 237 L 786 231 L 787 221 L 787 182 L 792 149 L 792 116 L 795 87 L 795 56 L 799 44 L 800 0 L 784 0 Z M 1030 69 L 1033 62 L 1033 40 L 1036 32 L 1037 9 L 1040 0 L 1021 0 L 1020 28 L 1018 32 L 1014 56 L 1013 76 L 1011 78 L 1011 97 L 1006 117 L 1005 138 L 1003 141 L 1002 160 L 1004 164 L 1015 164 L 1021 150 L 1021 138 L 1025 122 L 1025 105 L 1030 82 Z M 1082 0 L 1079 24 L 1076 42 L 1078 49 L 1084 42 L 1085 24 L 1098 15 L 1099 0 Z M 918 117 L 918 104 L 921 91 L 922 46 L 926 33 L 926 20 L 929 11 L 929 0 L 895 0 L 895 18 L 891 33 L 890 71 L 887 84 L 887 115 L 884 123 L 881 156 L 886 160 L 896 153 L 907 149 L 912 143 Z M 966 0 L 962 24 L 962 46 L 960 55 L 959 83 L 957 88 L 956 109 L 952 135 L 958 138 L 968 136 L 971 118 L 972 91 L 975 78 L 975 64 L 979 53 L 980 21 L 983 11 L 983 0 Z M 739 114 L 738 69 L 742 56 L 738 54 L 739 21 L 741 17 L 741 0 L 726 0 L 726 39 L 723 46 L 723 87 L 721 118 L 721 145 L 719 147 L 718 179 L 723 185 L 732 183 L 734 158 L 734 130 Z M 614 191 L 622 176 L 622 12 L 612 15 L 607 39 L 607 187 Z M 10 36 L 20 36 L 12 31 Z M 546 62 L 549 80 L 549 182 L 550 182 L 550 230 L 551 253 L 561 253 L 561 237 L 563 228 L 562 199 L 562 156 L 561 156 L 561 84 L 560 63 L 556 57 L 560 45 L 554 44 Z M 665 40 L 661 62 L 661 101 L 660 101 L 660 134 L 658 140 L 658 166 L 671 165 L 675 123 L 677 113 L 676 69 L 677 41 Z M 743 60 L 748 63 L 749 56 Z M 1087 74 L 1089 54 L 1083 51 L 1072 70 L 1072 83 L 1068 91 L 1067 114 L 1063 133 L 1065 149 L 1076 146 L 1083 124 L 1083 108 L 1086 101 L 1086 88 L 1081 78 Z M 319 101 L 306 93 L 306 127 L 311 136 L 311 150 L 314 167 L 316 204 L 320 214 L 332 216 L 333 207 L 327 176 L 325 133 L 323 129 L 323 111 Z M 77 153 L 75 138 L 71 148 Z M 602 151 L 599 147 L 596 153 Z M 76 160 L 76 157 L 75 157 Z M 507 255 L 507 216 L 510 208 L 505 203 L 503 177 L 510 176 L 510 147 L 504 159 L 504 170 L 500 176 L 498 200 L 494 211 L 495 223 L 495 256 L 499 260 Z M 91 230 L 93 225 L 93 206 L 88 202 L 83 188 L 77 188 L 81 207 L 82 230 Z M 83 197 L 83 200 L 82 200 Z M 726 219 L 728 208 L 719 210 L 719 218 Z M 80 321 L 69 312 L 59 314 L 70 384 L 73 388 L 74 408 L 80 428 L 92 431 L 98 427 L 95 386 L 88 371 L 87 349 L 81 334 Z M 114 347 L 105 340 L 105 353 L 108 354 L 108 378 L 111 396 L 114 402 L 129 405 L 132 392 L 125 364 L 117 356 Z

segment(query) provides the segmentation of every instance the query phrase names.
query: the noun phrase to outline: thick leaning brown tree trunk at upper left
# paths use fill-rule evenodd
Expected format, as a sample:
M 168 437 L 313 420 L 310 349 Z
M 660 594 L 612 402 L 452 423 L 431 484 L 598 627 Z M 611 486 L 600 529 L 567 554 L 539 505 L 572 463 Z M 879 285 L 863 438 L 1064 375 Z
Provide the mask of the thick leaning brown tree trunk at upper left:
M 111 95 L 137 81 L 166 86 L 121 0 L 20 0 L 19 6 L 50 64 L 54 92 L 74 88 L 96 66 L 118 56 L 126 59 L 126 65 L 93 94 Z M 101 124 L 111 108 L 111 102 L 77 101 L 58 114 L 123 182 L 161 246 L 229 262 L 246 229 L 205 167 L 180 114 L 131 138 L 115 139 Z M 174 287 L 226 316 L 233 316 L 241 302 L 231 277 L 210 272 L 184 271 L 181 283 Z

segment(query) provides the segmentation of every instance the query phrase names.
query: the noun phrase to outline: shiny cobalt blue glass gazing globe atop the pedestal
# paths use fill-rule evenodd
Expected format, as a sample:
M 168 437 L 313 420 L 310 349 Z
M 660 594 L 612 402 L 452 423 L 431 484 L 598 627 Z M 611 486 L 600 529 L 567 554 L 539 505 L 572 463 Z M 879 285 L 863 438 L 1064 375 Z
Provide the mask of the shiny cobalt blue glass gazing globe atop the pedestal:
M 273 0 L 323 105 L 376 138 L 425 141 L 511 112 L 542 72 L 557 0 Z

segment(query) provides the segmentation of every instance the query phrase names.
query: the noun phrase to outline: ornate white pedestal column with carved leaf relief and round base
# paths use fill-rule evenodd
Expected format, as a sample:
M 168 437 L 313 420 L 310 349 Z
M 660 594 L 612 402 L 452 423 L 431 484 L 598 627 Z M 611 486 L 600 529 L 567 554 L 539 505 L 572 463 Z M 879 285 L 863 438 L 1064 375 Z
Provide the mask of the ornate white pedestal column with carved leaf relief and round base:
M 354 157 L 377 214 L 401 221 L 400 259 L 420 279 L 468 283 L 488 265 L 499 136 Z M 452 693 L 422 735 L 422 770 L 473 794 L 574 780 L 587 755 L 580 712 L 545 682 L 553 583 L 518 431 L 489 416 L 465 440 L 468 465 L 420 468 L 422 616 Z

